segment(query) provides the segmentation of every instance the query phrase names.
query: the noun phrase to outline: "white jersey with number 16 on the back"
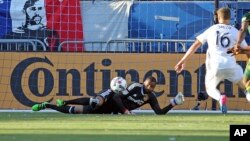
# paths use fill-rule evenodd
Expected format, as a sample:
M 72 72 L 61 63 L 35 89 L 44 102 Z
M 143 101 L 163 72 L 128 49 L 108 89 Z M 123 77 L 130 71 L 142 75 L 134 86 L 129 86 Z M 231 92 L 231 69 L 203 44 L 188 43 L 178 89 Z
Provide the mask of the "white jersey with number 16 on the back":
M 208 43 L 206 63 L 211 64 L 213 69 L 233 68 L 236 59 L 227 50 L 236 44 L 238 30 L 226 24 L 216 24 L 208 28 L 196 37 L 202 44 Z M 247 47 L 245 40 L 241 47 Z

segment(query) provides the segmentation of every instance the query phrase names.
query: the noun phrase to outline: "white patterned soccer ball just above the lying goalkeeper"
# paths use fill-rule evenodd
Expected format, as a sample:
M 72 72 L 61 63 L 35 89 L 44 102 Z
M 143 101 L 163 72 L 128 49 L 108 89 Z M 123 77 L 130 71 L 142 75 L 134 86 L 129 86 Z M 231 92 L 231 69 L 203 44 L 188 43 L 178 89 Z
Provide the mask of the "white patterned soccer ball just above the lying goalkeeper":
M 115 93 L 120 93 L 127 88 L 127 82 L 122 77 L 115 77 L 110 82 L 110 88 Z

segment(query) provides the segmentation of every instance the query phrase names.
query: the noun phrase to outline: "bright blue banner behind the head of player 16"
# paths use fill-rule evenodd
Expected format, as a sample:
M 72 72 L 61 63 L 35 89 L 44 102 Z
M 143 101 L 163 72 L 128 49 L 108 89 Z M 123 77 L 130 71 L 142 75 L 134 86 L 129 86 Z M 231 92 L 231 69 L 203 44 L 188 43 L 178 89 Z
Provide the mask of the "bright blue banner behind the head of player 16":
M 250 3 L 220 2 L 219 7 L 225 6 L 230 7 L 231 10 L 230 24 L 239 28 L 240 17 L 249 11 Z M 134 2 L 130 9 L 128 38 L 133 39 L 193 40 L 214 24 L 214 1 Z M 250 41 L 249 36 L 246 40 Z M 136 46 L 140 46 L 140 44 L 136 44 Z M 139 47 L 135 48 L 140 49 Z M 201 49 L 201 51 L 205 52 L 206 48 Z M 153 51 L 158 49 L 157 44 L 152 47 Z M 183 51 L 181 47 L 177 49 Z M 166 51 L 167 49 L 161 45 L 159 50 Z M 174 52 L 175 48 L 168 51 Z

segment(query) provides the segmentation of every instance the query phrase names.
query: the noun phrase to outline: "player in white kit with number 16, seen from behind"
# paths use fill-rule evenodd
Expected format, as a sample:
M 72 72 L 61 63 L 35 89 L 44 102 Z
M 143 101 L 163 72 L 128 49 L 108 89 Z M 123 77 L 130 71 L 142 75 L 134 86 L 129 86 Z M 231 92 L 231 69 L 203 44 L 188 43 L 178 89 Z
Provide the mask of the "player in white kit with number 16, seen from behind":
M 242 83 L 243 69 L 237 64 L 236 59 L 231 54 L 227 54 L 227 50 L 233 48 L 237 41 L 238 30 L 229 25 L 230 9 L 220 8 L 217 10 L 218 24 L 209 27 L 202 34 L 196 37 L 196 41 L 188 49 L 182 59 L 176 64 L 175 70 L 180 73 L 184 67 L 188 57 L 204 43 L 208 43 L 206 53 L 206 76 L 205 85 L 208 95 L 219 101 L 222 113 L 227 113 L 227 97 L 221 95 L 216 86 L 227 79 L 245 91 Z M 247 47 L 244 40 L 241 47 Z

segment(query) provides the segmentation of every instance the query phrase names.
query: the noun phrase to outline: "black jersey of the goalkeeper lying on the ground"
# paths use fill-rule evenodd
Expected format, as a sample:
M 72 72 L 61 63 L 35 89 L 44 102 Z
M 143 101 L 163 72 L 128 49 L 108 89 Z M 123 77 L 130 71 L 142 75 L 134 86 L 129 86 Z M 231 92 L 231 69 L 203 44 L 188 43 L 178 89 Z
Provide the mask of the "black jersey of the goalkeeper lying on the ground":
M 155 94 L 146 93 L 141 83 L 132 83 L 123 94 L 116 94 L 113 99 L 122 112 L 126 109 L 137 109 L 147 103 L 150 104 L 156 114 L 165 114 L 168 111 L 165 108 L 160 108 Z

